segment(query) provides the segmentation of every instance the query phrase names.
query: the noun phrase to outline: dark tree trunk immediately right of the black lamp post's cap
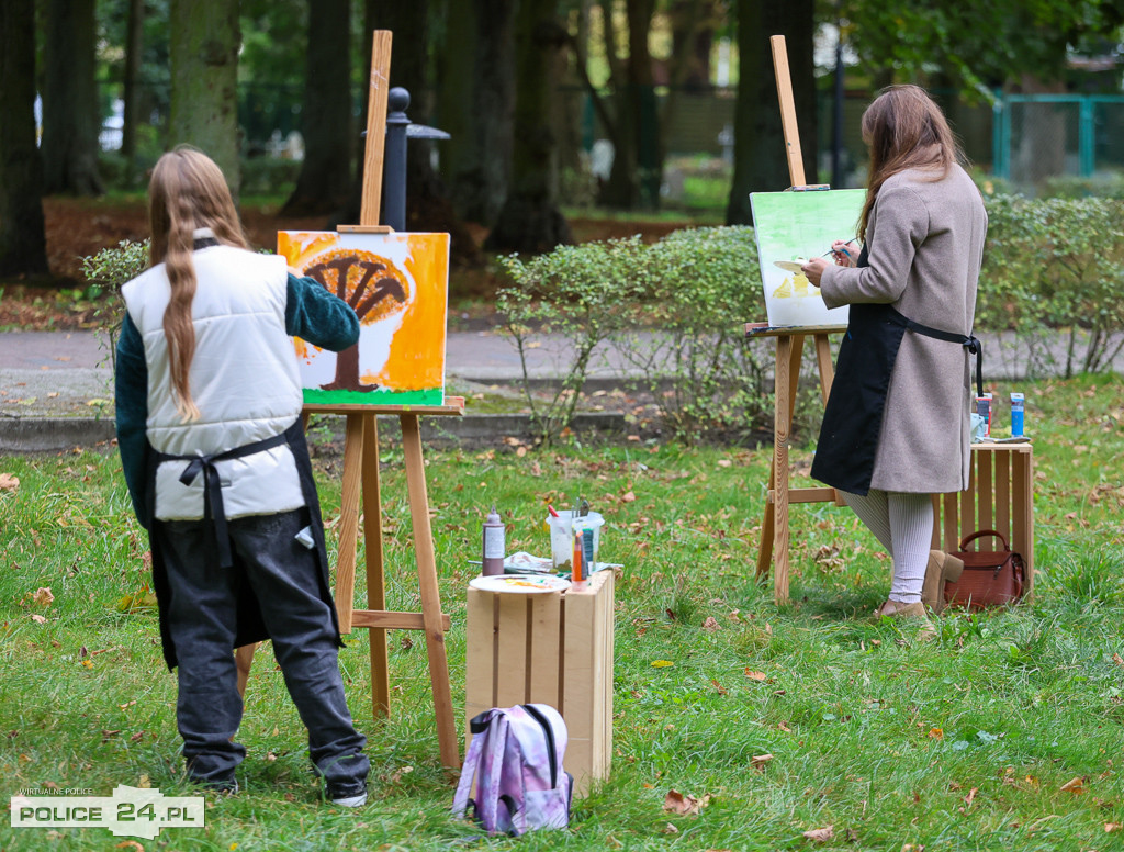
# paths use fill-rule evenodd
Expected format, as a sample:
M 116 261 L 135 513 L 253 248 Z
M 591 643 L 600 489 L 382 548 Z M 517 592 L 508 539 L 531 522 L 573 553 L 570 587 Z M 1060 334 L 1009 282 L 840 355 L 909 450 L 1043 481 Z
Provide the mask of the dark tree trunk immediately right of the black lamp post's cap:
M 438 115 L 442 173 L 463 219 L 490 225 L 507 197 L 515 102 L 515 0 L 450 0 Z

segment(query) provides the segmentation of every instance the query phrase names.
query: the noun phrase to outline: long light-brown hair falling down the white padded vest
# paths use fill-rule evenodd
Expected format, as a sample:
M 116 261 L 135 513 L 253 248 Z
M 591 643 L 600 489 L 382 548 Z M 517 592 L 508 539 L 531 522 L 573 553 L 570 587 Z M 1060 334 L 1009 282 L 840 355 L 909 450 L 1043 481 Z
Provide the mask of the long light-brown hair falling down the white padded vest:
M 175 408 L 184 420 L 199 419 L 191 399 L 188 374 L 196 354 L 191 302 L 196 296 L 196 268 L 191 262 L 196 228 L 210 228 L 225 245 L 247 248 L 238 212 L 221 170 L 197 148 L 180 145 L 164 154 L 148 182 L 148 225 L 153 266 L 163 262 L 172 293 L 164 310 L 164 336 L 172 372 Z

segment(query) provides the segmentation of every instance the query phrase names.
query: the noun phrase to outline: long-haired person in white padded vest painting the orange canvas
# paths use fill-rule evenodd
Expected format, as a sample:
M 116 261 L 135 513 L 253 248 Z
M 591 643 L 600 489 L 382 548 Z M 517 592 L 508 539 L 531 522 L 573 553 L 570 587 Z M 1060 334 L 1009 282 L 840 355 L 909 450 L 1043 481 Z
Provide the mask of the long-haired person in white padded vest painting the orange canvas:
M 359 339 L 351 307 L 250 251 L 219 167 L 188 146 L 148 184 L 149 269 L 121 288 L 117 435 L 148 531 L 164 659 L 190 780 L 236 792 L 246 750 L 233 650 L 263 638 L 308 728 L 325 795 L 366 801 L 370 761 L 339 674 L 292 335 Z

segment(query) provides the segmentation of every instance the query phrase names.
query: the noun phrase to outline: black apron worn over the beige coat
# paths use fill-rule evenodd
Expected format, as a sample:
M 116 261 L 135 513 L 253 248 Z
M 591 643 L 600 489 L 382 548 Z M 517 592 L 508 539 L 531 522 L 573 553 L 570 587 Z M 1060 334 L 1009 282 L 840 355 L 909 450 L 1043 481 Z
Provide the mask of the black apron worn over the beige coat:
M 869 265 L 865 247 L 858 265 Z M 984 356 L 976 337 L 914 323 L 889 305 L 852 305 L 819 427 L 813 478 L 850 493 L 870 491 L 886 395 L 907 330 L 967 346 L 976 355 L 976 384 L 984 396 Z

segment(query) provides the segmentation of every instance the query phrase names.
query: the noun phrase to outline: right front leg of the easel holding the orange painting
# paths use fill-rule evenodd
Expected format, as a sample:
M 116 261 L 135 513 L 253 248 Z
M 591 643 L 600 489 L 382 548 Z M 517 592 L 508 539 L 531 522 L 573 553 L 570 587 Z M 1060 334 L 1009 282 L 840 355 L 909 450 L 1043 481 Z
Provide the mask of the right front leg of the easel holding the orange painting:
M 422 430 L 417 415 L 404 414 L 400 419 L 406 484 L 410 496 L 410 518 L 414 522 L 414 552 L 418 563 L 418 586 L 422 590 L 422 623 L 425 625 L 426 651 L 429 654 L 429 681 L 433 685 L 441 762 L 450 769 L 459 769 L 461 756 L 456 742 L 456 724 L 453 720 L 453 696 L 448 686 L 445 628 L 441 611 L 441 592 L 437 588 L 437 559 L 433 549 L 429 498 L 425 486 L 425 461 L 422 457 Z

